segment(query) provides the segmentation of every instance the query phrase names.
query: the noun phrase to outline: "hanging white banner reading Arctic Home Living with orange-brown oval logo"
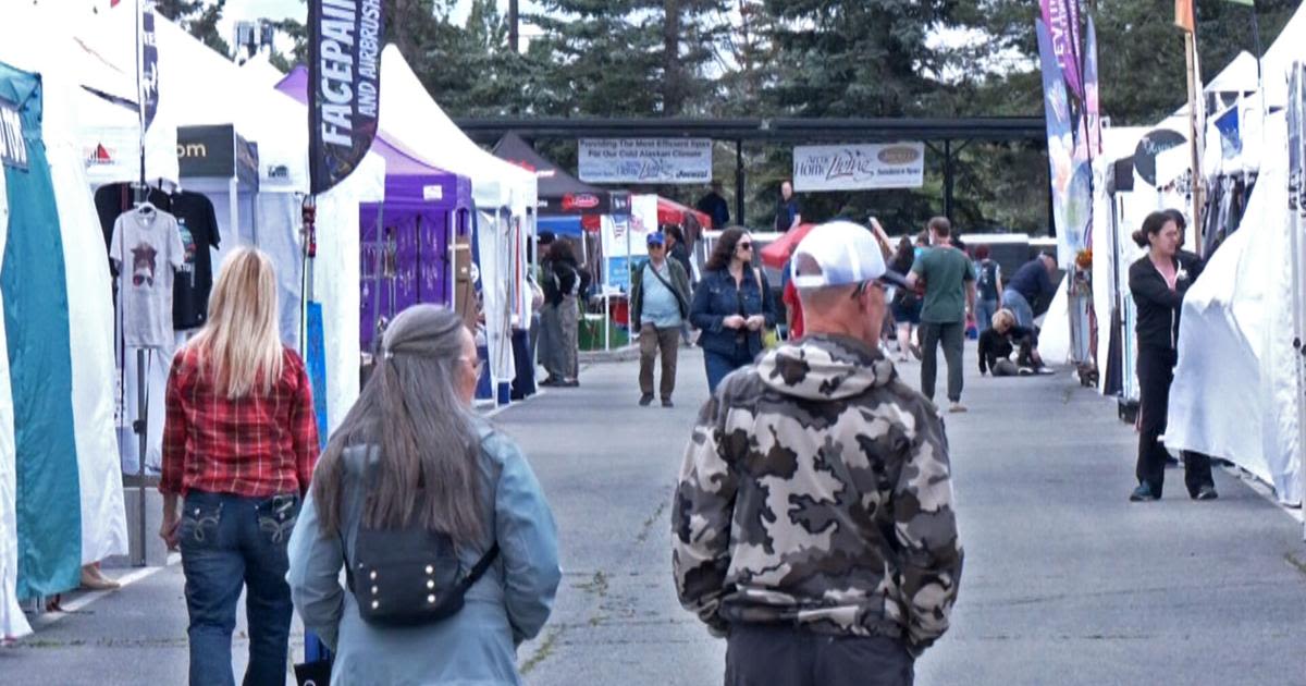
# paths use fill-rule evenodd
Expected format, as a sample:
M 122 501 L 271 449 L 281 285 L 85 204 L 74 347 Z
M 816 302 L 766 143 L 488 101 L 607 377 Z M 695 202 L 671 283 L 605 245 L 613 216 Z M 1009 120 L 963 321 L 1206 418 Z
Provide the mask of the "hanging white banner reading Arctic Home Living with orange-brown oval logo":
M 919 188 L 923 183 L 923 142 L 794 148 L 794 189 L 799 192 Z

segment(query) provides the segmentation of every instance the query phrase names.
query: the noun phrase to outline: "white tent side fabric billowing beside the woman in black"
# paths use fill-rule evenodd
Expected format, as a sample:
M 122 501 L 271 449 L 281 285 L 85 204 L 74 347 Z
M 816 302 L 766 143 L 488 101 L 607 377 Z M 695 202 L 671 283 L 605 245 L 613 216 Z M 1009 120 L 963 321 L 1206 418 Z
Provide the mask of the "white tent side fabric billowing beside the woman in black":
M 1286 150 L 1282 112 L 1266 124 L 1266 150 Z M 1165 443 L 1232 460 L 1301 503 L 1290 259 L 1286 155 L 1269 154 L 1241 227 L 1183 301 Z

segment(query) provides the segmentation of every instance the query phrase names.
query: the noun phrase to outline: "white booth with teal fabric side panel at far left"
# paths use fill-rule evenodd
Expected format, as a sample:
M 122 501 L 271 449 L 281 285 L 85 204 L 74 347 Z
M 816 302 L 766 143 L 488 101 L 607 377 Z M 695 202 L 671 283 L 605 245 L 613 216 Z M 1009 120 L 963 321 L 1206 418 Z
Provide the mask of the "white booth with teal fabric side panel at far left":
M 0 136 L 4 638 L 29 631 L 17 601 L 76 588 L 84 563 L 128 546 L 114 436 L 114 304 L 104 253 L 89 250 L 103 238 L 82 133 L 112 120 L 129 124 L 135 139 L 138 127 L 135 114 L 114 119 L 119 112 L 84 88 L 135 91 L 121 80 L 106 86 L 114 71 L 91 65 L 102 55 L 73 39 L 76 20 L 47 3 L 9 7 L 0 22 L 0 125 L 8 135 Z M 163 122 L 151 129 L 155 140 L 175 136 Z M 146 169 L 175 178 L 175 144 L 165 148 L 171 165 L 148 152 Z M 138 159 L 127 154 L 95 169 L 138 174 Z

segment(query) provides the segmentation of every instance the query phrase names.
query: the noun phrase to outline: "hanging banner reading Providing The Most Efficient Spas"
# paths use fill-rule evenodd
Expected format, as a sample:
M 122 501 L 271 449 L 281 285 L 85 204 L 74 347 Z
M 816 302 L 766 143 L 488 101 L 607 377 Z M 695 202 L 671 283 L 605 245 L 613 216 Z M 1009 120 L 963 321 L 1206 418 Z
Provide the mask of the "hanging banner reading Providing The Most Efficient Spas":
M 580 179 L 585 183 L 712 182 L 709 139 L 581 139 Z

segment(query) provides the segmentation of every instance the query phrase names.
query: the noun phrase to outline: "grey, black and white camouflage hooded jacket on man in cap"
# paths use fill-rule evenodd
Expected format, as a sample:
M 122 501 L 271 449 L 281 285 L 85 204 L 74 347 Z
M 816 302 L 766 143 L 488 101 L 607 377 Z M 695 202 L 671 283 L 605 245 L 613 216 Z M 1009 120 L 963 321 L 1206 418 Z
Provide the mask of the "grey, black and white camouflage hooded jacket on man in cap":
M 938 410 L 880 353 L 810 336 L 703 406 L 671 514 L 680 604 L 731 622 L 901 638 L 948 629 L 961 578 Z

